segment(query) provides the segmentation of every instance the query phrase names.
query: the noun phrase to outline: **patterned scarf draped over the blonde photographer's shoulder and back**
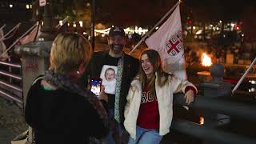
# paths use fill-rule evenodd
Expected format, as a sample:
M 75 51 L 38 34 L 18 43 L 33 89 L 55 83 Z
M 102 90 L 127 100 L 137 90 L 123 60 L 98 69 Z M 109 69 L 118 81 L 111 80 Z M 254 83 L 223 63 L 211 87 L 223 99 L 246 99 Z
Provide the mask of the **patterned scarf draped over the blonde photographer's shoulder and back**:
M 116 134 L 118 135 L 117 122 L 114 121 L 113 117 L 111 118 L 110 115 L 106 113 L 106 110 L 102 106 L 102 103 L 99 102 L 95 95 L 92 94 L 89 90 L 83 90 L 77 84 L 70 82 L 69 78 L 67 78 L 65 75 L 55 73 L 54 70 L 47 70 L 44 80 L 46 82 L 49 82 L 51 85 L 57 87 L 58 89 L 72 91 L 74 92 L 74 94 L 79 94 L 85 97 L 94 107 L 94 109 L 97 110 L 98 115 L 100 116 L 100 118 L 102 118 L 104 125 L 110 130 L 114 131 L 114 137 L 116 137 Z M 90 143 L 101 143 L 101 141 L 96 138 L 90 137 Z

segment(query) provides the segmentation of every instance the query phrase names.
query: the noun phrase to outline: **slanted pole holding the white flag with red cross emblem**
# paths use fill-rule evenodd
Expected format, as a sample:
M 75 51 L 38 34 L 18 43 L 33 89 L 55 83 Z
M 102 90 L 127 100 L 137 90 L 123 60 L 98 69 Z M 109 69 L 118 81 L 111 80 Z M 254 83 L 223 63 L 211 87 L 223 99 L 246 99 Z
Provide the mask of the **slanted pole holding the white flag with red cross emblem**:
M 143 38 L 137 43 L 137 45 L 134 46 L 133 50 L 130 50 L 129 54 L 133 53 L 134 50 L 135 50 L 143 41 L 145 41 L 145 39 L 152 33 L 152 31 L 153 31 L 163 20 L 165 20 L 168 15 L 170 15 L 170 13 L 178 6 L 179 3 L 180 3 L 180 2 L 178 1 L 178 2 L 160 19 L 160 21 L 159 21 L 157 24 L 155 24 L 154 27 L 153 27 L 149 32 L 147 32 L 147 33 L 143 36 Z

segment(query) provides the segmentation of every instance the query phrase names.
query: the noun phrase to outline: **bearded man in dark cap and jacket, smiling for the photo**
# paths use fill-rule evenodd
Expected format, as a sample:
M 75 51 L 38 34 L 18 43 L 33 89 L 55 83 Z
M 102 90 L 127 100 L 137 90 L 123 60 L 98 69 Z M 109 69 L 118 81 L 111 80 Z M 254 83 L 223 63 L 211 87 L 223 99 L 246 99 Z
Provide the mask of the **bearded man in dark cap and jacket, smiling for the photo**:
M 121 131 L 122 133 L 122 130 L 124 130 L 126 95 L 128 94 L 130 82 L 138 72 L 139 61 L 123 51 L 123 47 L 126 44 L 126 34 L 122 28 L 116 26 L 110 29 L 108 44 L 110 50 L 94 52 L 86 72 L 82 75 L 80 84 L 83 87 L 87 87 L 89 86 L 90 78 L 102 77 L 107 68 L 114 68 L 116 71 L 116 84 L 114 92 L 107 94 L 108 108 L 109 113 L 113 115 L 119 124 L 119 132 Z M 106 143 L 114 143 L 111 134 L 106 138 Z

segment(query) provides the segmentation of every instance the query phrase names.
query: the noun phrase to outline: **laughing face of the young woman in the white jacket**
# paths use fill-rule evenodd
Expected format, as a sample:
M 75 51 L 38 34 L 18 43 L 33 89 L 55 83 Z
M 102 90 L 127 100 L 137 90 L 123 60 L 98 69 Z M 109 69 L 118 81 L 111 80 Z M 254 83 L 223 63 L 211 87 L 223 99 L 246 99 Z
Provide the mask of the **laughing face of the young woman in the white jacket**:
M 153 74 L 154 69 L 147 54 L 142 54 L 141 62 L 142 70 L 146 74 L 146 77 L 150 78 L 150 75 Z

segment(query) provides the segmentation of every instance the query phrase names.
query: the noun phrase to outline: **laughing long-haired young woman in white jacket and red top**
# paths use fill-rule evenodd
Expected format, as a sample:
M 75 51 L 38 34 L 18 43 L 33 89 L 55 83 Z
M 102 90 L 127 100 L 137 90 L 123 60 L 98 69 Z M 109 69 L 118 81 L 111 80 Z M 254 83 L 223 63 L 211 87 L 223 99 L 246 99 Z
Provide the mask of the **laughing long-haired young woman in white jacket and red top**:
M 138 76 L 131 82 L 125 107 L 124 126 L 129 144 L 157 144 L 169 133 L 173 118 L 173 94 L 185 93 L 186 103 L 194 101 L 196 87 L 162 70 L 155 50 L 145 50 Z

